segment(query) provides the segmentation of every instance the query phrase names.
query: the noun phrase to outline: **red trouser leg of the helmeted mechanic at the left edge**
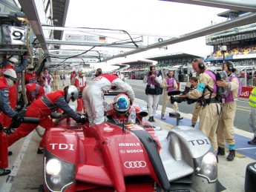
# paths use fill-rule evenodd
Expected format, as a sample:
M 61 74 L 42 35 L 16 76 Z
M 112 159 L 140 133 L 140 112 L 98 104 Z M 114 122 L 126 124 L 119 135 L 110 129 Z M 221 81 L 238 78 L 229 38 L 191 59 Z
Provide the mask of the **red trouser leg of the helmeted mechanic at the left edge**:
M 0 125 L 0 168 L 8 168 L 8 138 Z

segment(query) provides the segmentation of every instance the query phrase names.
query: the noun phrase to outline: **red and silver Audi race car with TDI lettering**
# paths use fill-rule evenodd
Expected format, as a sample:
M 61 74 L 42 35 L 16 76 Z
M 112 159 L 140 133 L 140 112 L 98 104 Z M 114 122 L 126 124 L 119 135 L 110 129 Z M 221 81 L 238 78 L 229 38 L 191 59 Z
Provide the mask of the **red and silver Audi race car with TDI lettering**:
M 135 125 L 59 121 L 46 136 L 44 190 L 218 191 L 209 139 L 186 126 L 144 126 L 141 112 Z

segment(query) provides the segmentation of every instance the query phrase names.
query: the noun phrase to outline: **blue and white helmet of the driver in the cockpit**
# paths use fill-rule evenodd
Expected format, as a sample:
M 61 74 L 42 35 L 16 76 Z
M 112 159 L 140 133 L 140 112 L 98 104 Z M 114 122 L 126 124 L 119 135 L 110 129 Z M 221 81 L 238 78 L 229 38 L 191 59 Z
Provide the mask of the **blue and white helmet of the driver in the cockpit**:
M 130 99 L 124 93 L 120 93 L 114 98 L 114 109 L 116 110 L 116 113 L 124 115 L 128 112 L 129 107 Z

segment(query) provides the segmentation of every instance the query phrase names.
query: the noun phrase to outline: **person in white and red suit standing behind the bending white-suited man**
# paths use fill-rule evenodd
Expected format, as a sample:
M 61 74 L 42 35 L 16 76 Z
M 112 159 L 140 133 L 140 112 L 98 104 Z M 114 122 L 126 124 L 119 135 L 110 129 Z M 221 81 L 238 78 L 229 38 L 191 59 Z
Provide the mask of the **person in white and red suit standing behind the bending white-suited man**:
M 84 90 L 86 86 L 86 78 L 85 78 L 85 70 L 79 70 L 78 76 L 75 78 L 75 84 L 76 88 L 79 89 L 79 98 L 77 99 L 77 108 L 76 113 L 85 113 L 85 105 L 82 100 L 82 90 Z

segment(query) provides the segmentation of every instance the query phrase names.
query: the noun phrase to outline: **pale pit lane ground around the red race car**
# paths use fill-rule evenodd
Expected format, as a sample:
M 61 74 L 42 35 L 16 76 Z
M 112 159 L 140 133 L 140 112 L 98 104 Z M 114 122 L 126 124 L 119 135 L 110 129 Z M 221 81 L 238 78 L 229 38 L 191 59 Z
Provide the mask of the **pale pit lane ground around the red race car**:
M 146 109 L 145 101 L 135 99 L 135 103 L 141 105 L 142 109 Z M 159 110 L 161 107 L 160 105 Z M 173 110 L 167 108 L 166 112 L 168 114 L 173 112 Z M 180 121 L 180 125 L 188 125 L 191 121 L 191 115 L 181 113 L 181 116 L 184 119 Z M 160 111 L 158 111 L 155 118 L 156 122 L 153 125 L 160 126 L 163 129 L 174 128 L 176 119 L 169 118 L 168 116 L 165 116 L 165 118 L 165 121 L 161 120 Z M 44 129 L 42 129 L 43 131 Z M 238 142 L 244 143 L 245 146 L 247 146 L 247 141 L 252 139 L 252 133 L 237 128 L 234 128 L 234 133 L 236 134 L 236 140 L 239 138 Z M 13 152 L 13 155 L 9 156 L 9 169 L 12 172 L 8 176 L 0 176 L 0 192 L 42 191 L 44 159 L 43 155 L 36 153 L 40 140 L 41 138 L 36 133 L 36 130 L 34 130 L 27 137 L 20 139 L 8 149 Z M 256 162 L 256 146 L 250 145 L 246 150 L 251 151 L 250 155 L 248 153 L 240 153 L 242 150 L 237 150 L 236 157 L 232 162 L 226 160 L 228 155 L 227 149 L 226 156 L 219 157 L 218 179 L 226 188 L 226 192 L 244 191 L 246 166 Z

